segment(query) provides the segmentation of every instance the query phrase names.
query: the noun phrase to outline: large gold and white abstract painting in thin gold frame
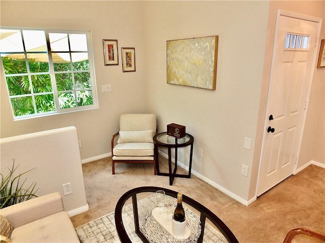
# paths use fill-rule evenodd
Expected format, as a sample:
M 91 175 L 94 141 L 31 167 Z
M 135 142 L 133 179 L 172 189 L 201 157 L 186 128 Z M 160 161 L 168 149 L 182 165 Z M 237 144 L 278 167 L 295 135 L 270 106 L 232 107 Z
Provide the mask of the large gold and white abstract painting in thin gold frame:
M 167 83 L 215 90 L 218 35 L 167 41 Z

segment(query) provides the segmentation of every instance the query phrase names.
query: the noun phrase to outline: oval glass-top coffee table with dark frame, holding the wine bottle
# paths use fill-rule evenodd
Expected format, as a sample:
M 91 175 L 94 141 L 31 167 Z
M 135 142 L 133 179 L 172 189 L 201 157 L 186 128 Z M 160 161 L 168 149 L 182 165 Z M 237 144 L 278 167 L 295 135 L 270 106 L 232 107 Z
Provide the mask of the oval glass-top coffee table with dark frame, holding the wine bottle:
M 233 232 L 222 220 L 205 206 L 186 195 L 183 195 L 183 207 L 186 226 L 190 234 L 186 239 L 175 237 L 151 213 L 156 208 L 155 192 L 157 190 L 164 190 L 166 197 L 174 199 L 174 205 L 177 204 L 178 192 L 161 187 L 138 187 L 125 192 L 120 197 L 115 207 L 114 217 L 121 242 L 238 243 Z M 172 216 L 172 211 L 169 212 L 169 218 Z

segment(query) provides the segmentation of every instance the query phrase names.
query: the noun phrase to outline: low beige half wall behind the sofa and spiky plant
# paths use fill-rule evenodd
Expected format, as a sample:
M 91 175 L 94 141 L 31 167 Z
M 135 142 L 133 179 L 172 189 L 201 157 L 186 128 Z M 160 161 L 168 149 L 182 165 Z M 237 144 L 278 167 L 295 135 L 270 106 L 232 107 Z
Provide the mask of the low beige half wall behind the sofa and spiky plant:
M 75 127 L 3 138 L 0 144 L 3 176 L 8 175 L 14 161 L 14 176 L 31 170 L 21 178 L 20 183 L 26 178 L 24 189 L 36 182 L 38 196 L 58 191 L 64 210 L 71 216 L 88 210 Z M 66 183 L 72 188 L 68 195 L 62 189 Z

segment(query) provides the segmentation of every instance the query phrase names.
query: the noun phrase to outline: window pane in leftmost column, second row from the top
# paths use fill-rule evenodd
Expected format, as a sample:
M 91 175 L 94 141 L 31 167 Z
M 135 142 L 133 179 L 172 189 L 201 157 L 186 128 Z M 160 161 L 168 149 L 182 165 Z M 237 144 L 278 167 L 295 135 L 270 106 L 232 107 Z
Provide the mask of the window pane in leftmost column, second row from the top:
M 24 54 L 1 55 L 5 74 L 27 73 Z

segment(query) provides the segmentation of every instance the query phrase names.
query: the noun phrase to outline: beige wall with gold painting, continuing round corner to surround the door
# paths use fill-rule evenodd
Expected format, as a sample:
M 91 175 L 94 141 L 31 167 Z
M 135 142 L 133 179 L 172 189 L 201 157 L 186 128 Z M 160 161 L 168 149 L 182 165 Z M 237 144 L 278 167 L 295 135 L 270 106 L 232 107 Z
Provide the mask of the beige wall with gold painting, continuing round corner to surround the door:
M 159 129 L 172 122 L 186 126 L 194 136 L 193 170 L 237 199 L 255 197 L 277 10 L 324 18 L 324 8 L 324 1 L 144 4 L 150 63 L 145 76 Z M 209 35 L 219 35 L 216 91 L 166 84 L 166 41 Z M 315 67 L 298 168 L 313 158 L 325 164 L 324 76 L 324 69 Z M 251 150 L 243 148 L 244 137 L 252 139 Z M 242 164 L 249 167 L 248 178 L 241 175 Z

